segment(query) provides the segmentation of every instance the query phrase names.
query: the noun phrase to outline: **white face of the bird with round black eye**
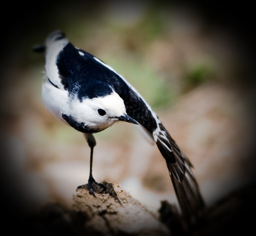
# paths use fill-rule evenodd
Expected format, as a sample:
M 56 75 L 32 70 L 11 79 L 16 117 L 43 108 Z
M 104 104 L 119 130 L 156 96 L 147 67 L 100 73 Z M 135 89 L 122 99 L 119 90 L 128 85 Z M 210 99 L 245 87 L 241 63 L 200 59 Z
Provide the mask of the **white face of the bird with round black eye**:
M 77 122 L 84 122 L 100 129 L 106 129 L 118 122 L 115 117 L 124 114 L 124 101 L 114 91 L 105 97 L 85 98 L 82 102 L 76 99 L 70 103 L 70 115 Z

